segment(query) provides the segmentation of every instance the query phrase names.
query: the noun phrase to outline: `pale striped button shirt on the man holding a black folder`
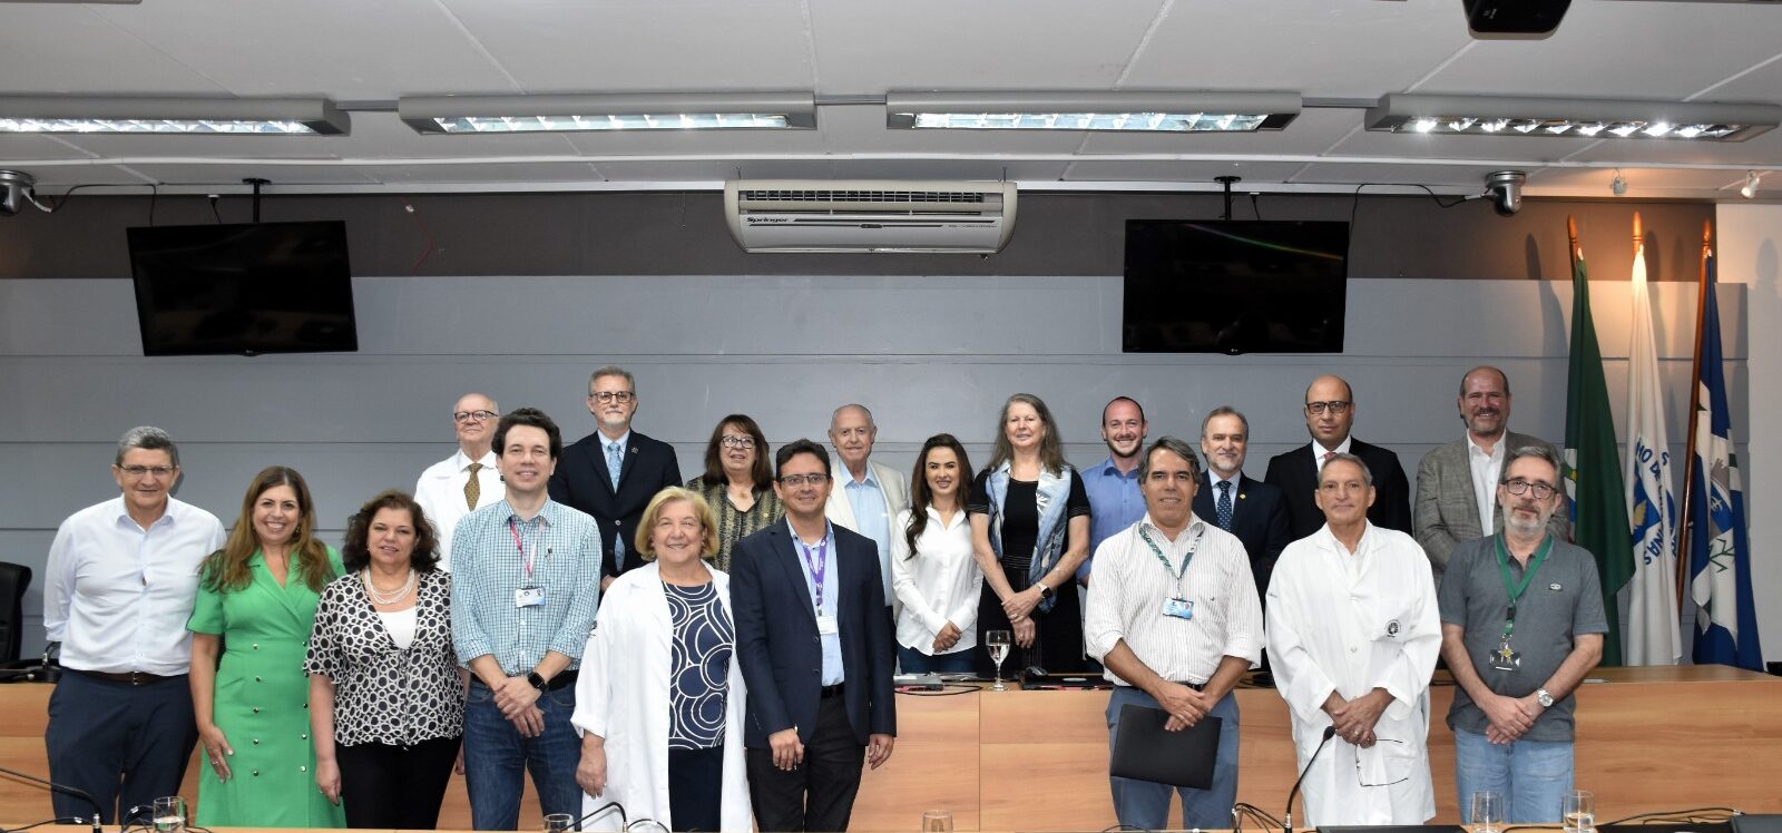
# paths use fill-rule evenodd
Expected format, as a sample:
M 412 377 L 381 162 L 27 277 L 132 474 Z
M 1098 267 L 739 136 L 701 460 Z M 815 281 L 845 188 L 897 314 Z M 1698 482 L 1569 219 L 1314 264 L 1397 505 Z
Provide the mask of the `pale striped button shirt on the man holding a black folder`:
M 1140 530 L 1162 550 L 1167 568 Z M 1183 573 L 1181 559 L 1190 548 L 1194 559 Z M 1192 602 L 1194 618 L 1164 616 L 1171 598 Z M 1237 536 L 1190 518 L 1171 539 L 1148 513 L 1101 541 L 1083 611 L 1083 644 L 1099 660 L 1123 639 L 1139 662 L 1171 682 L 1205 683 L 1224 657 L 1240 657 L 1256 667 L 1263 644 L 1262 602 Z M 1130 685 L 1114 671 L 1103 676 Z

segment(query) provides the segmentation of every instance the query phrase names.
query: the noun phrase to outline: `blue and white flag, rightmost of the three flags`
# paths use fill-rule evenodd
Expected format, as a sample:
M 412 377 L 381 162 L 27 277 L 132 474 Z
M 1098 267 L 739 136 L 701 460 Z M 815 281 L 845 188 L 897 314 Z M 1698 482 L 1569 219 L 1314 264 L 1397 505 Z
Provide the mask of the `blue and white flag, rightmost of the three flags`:
M 1752 548 L 1745 538 L 1745 489 L 1732 452 L 1727 379 L 1720 356 L 1720 303 L 1714 256 L 1704 262 L 1700 377 L 1695 379 L 1695 473 L 1689 477 L 1689 598 L 1695 614 L 1695 662 L 1764 669 L 1752 605 Z

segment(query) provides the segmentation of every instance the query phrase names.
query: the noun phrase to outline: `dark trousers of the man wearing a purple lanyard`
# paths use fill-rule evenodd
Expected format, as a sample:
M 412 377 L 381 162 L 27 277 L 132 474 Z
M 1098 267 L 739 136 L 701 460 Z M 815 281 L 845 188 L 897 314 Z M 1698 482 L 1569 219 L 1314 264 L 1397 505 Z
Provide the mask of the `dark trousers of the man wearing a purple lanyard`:
M 848 829 L 862 765 L 866 748 L 854 737 L 845 698 L 823 698 L 802 765 L 788 772 L 773 765 L 773 749 L 748 749 L 748 803 L 756 808 L 756 828 L 777 833 Z

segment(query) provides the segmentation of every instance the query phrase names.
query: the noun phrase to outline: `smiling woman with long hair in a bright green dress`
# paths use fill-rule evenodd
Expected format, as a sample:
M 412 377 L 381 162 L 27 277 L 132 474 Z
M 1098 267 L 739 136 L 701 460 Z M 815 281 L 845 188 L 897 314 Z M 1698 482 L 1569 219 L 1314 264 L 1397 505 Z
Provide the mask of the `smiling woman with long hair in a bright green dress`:
M 285 466 L 255 475 L 228 541 L 198 570 L 198 602 L 185 625 L 205 753 L 196 824 L 346 824 L 315 789 L 303 676 L 315 602 L 340 571 L 340 555 L 315 539 L 315 502 L 303 475 Z

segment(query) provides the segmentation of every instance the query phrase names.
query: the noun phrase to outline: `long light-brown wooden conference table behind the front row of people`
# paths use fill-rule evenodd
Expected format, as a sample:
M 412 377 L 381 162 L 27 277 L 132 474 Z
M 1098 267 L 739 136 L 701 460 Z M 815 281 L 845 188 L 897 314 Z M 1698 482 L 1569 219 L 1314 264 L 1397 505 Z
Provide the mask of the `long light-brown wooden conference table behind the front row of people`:
M 1577 785 L 1597 794 L 1598 819 L 1704 805 L 1782 812 L 1782 678 L 1725 666 L 1598 669 L 1579 689 Z M 1445 682 L 1445 675 L 1440 675 Z M 0 685 L 0 765 L 48 774 L 43 724 L 50 685 Z M 1454 735 L 1443 724 L 1454 687 L 1431 687 L 1429 764 L 1436 821 L 1459 821 Z M 1103 829 L 1108 796 L 1105 691 L 962 691 L 898 696 L 891 762 L 868 771 L 852 829 L 916 829 L 923 810 L 953 813 L 953 829 Z M 1238 801 L 1279 813 L 1292 787 L 1287 707 L 1272 689 L 1238 689 Z M 180 790 L 196 799 L 196 764 Z M 50 817 L 37 787 L 0 778 L 18 821 Z M 527 787 L 522 828 L 538 805 Z M 1180 822 L 1180 817 L 1176 817 Z M 440 829 L 469 829 L 454 778 Z

